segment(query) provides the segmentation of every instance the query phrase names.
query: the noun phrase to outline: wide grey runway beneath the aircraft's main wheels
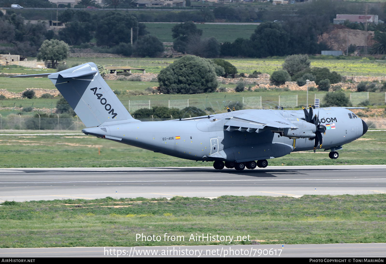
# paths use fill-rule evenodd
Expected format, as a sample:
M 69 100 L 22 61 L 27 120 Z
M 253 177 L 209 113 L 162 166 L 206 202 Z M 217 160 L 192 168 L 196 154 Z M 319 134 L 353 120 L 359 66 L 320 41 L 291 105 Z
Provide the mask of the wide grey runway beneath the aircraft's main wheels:
M 386 165 L 0 169 L 0 201 L 386 193 Z

